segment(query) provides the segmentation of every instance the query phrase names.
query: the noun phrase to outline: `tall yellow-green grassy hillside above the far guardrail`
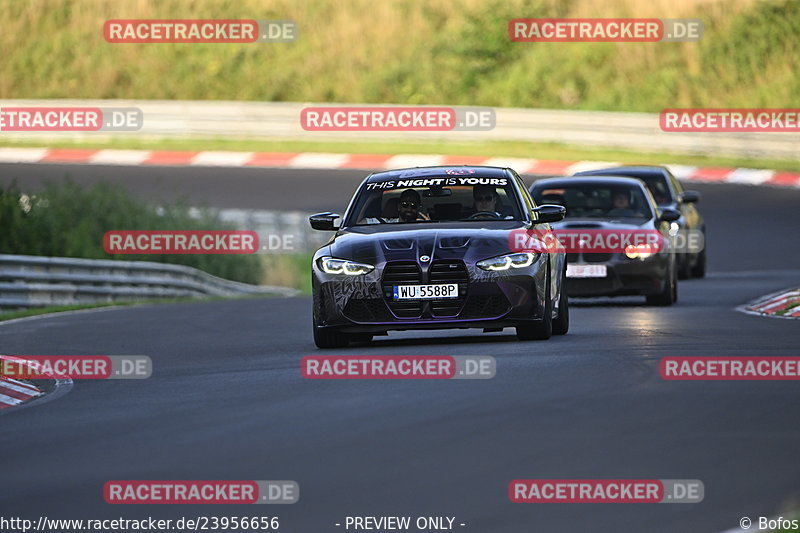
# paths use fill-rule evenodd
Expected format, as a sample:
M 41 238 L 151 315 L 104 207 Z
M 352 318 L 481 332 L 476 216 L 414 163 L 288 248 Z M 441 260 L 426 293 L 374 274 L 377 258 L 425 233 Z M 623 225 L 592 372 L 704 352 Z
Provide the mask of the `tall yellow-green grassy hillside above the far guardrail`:
M 689 43 L 515 43 L 522 17 L 699 18 Z M 795 0 L 4 0 L 0 98 L 800 107 Z M 293 19 L 272 44 L 110 44 L 107 19 Z

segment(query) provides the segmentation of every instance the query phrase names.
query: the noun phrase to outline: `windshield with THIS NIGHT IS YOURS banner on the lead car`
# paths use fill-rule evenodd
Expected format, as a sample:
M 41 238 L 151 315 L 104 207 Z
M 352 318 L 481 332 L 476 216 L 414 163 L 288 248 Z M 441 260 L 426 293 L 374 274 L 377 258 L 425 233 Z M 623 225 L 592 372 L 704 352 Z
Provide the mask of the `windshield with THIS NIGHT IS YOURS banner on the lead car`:
M 448 175 L 366 183 L 346 225 L 522 220 L 508 178 Z

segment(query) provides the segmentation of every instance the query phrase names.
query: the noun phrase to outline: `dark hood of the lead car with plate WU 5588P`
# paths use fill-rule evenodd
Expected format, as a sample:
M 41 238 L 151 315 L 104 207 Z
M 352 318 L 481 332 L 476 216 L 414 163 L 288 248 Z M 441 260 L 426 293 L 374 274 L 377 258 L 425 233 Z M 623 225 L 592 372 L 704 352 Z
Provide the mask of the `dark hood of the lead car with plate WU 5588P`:
M 522 221 L 493 222 L 480 227 L 464 224 L 357 226 L 339 231 L 328 245 L 332 257 L 378 265 L 385 261 L 428 261 L 462 259 L 479 261 L 509 252 L 514 230 L 527 226 Z M 423 261 L 424 262 L 424 261 Z

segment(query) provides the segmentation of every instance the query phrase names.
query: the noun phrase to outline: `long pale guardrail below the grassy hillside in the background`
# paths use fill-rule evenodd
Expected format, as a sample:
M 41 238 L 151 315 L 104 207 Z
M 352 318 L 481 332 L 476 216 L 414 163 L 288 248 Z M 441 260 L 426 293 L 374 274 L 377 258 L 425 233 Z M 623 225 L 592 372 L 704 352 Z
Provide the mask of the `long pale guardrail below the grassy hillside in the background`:
M 300 126 L 303 104 L 275 102 L 158 100 L 0 100 L 0 107 L 138 107 L 144 127 L 135 133 L 0 133 L 2 139 L 97 140 L 135 137 L 175 139 L 291 139 L 298 141 L 448 140 L 555 142 L 576 146 L 649 150 L 680 154 L 800 159 L 800 138 L 790 133 L 672 133 L 661 131 L 655 113 L 494 108 L 490 131 L 321 132 Z M 352 104 L 355 105 L 355 104 Z M 458 108 L 458 106 L 453 106 Z M 535 158 L 537 154 L 531 153 Z

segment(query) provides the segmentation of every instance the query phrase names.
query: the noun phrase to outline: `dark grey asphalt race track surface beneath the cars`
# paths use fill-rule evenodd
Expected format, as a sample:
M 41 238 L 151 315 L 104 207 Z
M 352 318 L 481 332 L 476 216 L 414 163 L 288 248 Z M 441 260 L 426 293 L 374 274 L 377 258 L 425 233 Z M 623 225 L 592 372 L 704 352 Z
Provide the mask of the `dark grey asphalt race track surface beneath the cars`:
M 69 172 L 149 201 L 342 210 L 358 171 L 0 165 L 0 181 Z M 111 176 L 109 178 L 109 176 Z M 0 416 L 3 515 L 279 516 L 343 531 L 347 515 L 454 516 L 456 530 L 722 531 L 800 494 L 797 382 L 664 381 L 663 356 L 797 355 L 800 322 L 737 305 L 800 282 L 800 190 L 695 184 L 710 275 L 679 301 L 575 301 L 565 337 L 405 332 L 352 355 L 492 355 L 491 380 L 312 381 L 310 298 L 92 311 L 0 324 L 0 353 L 149 355 L 141 381 L 81 381 Z M 326 201 L 326 199 L 330 199 Z M 524 478 L 699 479 L 699 504 L 512 504 Z M 296 480 L 276 506 L 108 505 L 109 480 Z

